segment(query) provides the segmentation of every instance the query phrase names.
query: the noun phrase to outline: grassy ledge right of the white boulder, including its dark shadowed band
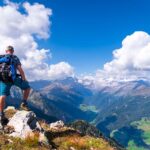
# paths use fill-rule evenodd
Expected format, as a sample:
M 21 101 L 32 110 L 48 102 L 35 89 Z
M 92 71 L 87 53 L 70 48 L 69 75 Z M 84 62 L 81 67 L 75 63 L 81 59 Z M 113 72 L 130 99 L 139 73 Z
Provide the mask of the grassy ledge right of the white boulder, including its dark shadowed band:
M 59 130 L 49 129 L 47 124 L 41 124 L 47 131 L 47 137 L 51 145 L 57 150 L 116 150 L 103 138 L 95 138 L 81 135 L 77 130 L 63 127 Z

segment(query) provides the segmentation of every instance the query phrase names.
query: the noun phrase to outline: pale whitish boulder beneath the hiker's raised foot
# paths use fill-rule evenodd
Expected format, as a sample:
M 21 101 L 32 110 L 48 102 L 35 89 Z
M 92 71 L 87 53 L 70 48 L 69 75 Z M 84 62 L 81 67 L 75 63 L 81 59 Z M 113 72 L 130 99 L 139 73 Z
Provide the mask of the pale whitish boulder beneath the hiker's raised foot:
M 47 137 L 45 136 L 45 131 L 40 126 L 36 115 L 32 111 L 17 111 L 14 107 L 8 107 L 5 112 L 14 112 L 14 115 L 10 115 L 7 126 L 5 126 L 5 132 L 9 136 L 19 137 L 21 139 L 26 139 L 28 137 L 38 136 L 38 140 L 41 143 L 48 144 Z M 38 134 L 37 134 L 38 133 Z

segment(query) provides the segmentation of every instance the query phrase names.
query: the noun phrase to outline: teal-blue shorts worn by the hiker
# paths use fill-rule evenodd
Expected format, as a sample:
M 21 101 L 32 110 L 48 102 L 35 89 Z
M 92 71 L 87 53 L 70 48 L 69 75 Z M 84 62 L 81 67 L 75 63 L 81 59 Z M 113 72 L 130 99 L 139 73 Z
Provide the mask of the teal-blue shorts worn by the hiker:
M 0 81 L 0 96 L 2 96 L 2 95 L 9 96 L 10 88 L 13 85 L 19 87 L 22 90 L 26 90 L 26 89 L 30 88 L 28 81 L 24 81 L 19 77 L 17 77 L 13 83 L 4 83 L 4 82 Z

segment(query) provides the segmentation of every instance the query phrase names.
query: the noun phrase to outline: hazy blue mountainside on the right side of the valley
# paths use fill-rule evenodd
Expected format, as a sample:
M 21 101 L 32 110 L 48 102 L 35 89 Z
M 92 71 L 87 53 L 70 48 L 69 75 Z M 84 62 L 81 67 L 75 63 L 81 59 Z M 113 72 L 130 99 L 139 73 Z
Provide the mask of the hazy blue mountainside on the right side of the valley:
M 115 138 L 129 149 L 150 149 L 150 82 L 139 80 L 112 83 L 95 92 L 87 105 L 94 105 L 98 115 L 94 124 L 106 135 Z M 148 121 L 141 121 L 144 118 Z M 145 134 L 147 136 L 145 136 Z M 145 141 L 146 140 L 146 141 Z

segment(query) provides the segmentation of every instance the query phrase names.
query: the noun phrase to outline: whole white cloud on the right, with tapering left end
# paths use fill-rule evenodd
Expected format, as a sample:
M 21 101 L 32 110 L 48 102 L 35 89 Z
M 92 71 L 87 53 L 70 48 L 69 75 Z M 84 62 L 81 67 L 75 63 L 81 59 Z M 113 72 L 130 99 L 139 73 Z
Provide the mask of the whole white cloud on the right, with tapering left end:
M 113 60 L 95 75 L 82 77 L 82 82 L 99 88 L 116 81 L 139 79 L 150 79 L 150 35 L 143 31 L 128 35 L 122 47 L 113 51 Z

